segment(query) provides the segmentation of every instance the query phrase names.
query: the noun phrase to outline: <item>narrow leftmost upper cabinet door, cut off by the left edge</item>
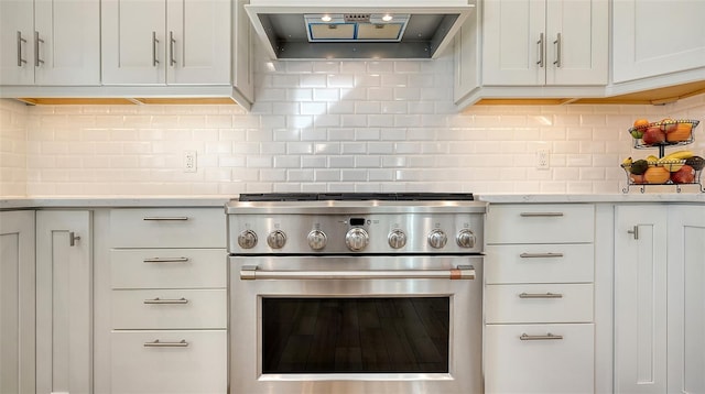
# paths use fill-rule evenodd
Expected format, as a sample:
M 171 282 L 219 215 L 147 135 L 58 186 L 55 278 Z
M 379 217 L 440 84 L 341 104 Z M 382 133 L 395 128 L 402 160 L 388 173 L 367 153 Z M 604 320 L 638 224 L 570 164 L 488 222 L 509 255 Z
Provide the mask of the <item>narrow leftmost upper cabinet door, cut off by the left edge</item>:
M 0 85 L 34 84 L 32 1 L 0 1 Z

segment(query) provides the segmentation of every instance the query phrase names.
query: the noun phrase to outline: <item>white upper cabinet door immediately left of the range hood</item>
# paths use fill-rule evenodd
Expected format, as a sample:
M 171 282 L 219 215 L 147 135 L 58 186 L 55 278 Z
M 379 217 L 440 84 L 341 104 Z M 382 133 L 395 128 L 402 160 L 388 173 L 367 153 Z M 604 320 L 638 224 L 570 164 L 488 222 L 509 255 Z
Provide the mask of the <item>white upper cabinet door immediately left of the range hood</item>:
M 166 83 L 230 84 L 230 1 L 166 0 Z

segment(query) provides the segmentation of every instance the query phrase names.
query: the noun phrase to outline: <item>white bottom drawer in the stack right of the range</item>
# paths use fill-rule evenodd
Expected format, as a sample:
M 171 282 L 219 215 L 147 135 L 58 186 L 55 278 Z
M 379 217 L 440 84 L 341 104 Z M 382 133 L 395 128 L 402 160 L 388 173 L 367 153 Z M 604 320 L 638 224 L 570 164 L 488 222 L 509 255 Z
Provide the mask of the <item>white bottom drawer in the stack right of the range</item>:
M 594 393 L 594 330 L 592 324 L 487 326 L 485 393 Z M 547 333 L 563 338 L 520 339 Z

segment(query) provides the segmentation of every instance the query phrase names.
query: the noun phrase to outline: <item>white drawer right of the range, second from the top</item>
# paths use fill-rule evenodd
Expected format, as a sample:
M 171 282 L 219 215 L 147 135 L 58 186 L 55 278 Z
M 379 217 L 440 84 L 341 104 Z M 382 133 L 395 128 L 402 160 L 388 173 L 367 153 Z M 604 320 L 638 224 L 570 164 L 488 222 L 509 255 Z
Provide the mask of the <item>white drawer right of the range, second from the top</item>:
M 485 283 L 593 282 L 592 243 L 488 245 Z

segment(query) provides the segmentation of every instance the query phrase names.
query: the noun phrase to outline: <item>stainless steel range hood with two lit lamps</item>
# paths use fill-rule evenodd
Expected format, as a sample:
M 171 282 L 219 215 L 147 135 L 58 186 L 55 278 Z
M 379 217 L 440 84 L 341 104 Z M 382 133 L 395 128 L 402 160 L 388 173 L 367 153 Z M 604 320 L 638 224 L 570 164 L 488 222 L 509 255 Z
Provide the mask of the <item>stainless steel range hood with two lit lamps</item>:
M 273 59 L 435 58 L 471 1 L 250 0 L 245 9 Z

